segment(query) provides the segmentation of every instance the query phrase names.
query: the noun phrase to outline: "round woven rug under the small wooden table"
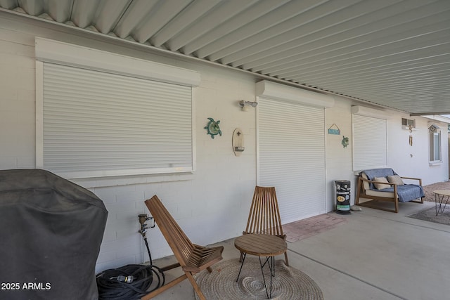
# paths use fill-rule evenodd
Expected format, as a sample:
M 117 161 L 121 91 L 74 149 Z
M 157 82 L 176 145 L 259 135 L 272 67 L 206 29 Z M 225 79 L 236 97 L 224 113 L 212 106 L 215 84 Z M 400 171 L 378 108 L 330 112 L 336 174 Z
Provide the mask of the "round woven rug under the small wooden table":
M 282 260 L 277 260 L 275 266 L 270 299 L 323 300 L 321 289 L 308 275 L 286 266 Z M 247 257 L 236 282 L 239 268 L 239 259 L 221 261 L 212 266 L 212 273 L 203 270 L 196 274 L 195 281 L 208 300 L 267 299 L 259 259 Z M 264 266 L 266 285 L 270 292 L 269 272 L 268 266 Z M 195 299 L 198 299 L 196 293 Z

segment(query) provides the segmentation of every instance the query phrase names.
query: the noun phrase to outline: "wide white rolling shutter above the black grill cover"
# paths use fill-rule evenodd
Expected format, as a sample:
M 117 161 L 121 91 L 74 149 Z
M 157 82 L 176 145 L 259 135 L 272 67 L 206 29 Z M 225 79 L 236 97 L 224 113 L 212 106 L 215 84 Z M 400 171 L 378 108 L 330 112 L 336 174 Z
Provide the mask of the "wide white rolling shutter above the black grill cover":
M 192 87 L 44 63 L 44 169 L 68 178 L 193 170 Z

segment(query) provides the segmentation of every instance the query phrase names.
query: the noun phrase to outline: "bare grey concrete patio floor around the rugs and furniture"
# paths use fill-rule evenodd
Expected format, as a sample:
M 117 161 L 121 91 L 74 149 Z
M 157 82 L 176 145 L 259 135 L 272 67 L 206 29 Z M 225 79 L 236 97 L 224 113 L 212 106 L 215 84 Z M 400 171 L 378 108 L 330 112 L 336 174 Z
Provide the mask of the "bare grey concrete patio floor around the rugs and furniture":
M 406 217 L 434 206 L 434 202 L 401 203 L 398 214 L 362 207 L 363 211 L 345 215 L 347 223 L 288 242 L 290 266 L 309 275 L 325 300 L 450 299 L 450 226 Z M 225 260 L 239 255 L 233 239 L 214 245 L 224 246 Z M 161 267 L 173 261 L 167 257 L 154 264 Z M 166 278 L 177 275 L 180 268 L 167 272 Z M 184 280 L 154 299 L 195 296 Z

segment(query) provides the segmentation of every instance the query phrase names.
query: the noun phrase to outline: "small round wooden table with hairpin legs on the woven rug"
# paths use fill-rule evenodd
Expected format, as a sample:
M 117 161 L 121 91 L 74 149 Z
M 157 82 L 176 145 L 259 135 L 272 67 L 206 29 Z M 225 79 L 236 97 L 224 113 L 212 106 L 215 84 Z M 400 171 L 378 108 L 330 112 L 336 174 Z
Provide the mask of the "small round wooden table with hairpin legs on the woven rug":
M 264 281 L 264 287 L 266 288 L 267 298 L 272 296 L 272 277 L 275 276 L 275 256 L 283 254 L 288 249 L 288 244 L 281 237 L 275 235 L 263 235 L 256 233 L 249 233 L 236 237 L 234 240 L 234 247 L 243 253 L 242 264 L 236 282 L 239 280 L 240 271 L 244 265 L 245 256 L 247 254 L 259 256 L 259 265 L 261 266 L 262 280 Z M 266 256 L 264 263 L 261 261 L 261 256 Z M 269 266 L 270 270 L 270 294 L 267 292 L 266 278 L 264 278 L 263 267 Z

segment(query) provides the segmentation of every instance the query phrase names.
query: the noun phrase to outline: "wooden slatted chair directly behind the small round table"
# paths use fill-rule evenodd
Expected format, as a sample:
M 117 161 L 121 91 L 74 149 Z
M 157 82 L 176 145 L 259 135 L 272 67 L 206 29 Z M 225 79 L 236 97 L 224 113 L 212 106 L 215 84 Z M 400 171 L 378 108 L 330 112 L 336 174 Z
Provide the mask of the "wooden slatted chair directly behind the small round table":
M 256 186 L 253 193 L 252 206 L 248 215 L 247 228 L 243 234 L 264 233 L 266 235 L 276 235 L 286 240 L 281 226 L 280 210 L 274 187 Z M 289 266 L 288 253 L 284 253 L 286 266 Z M 243 254 L 240 254 L 242 261 Z

